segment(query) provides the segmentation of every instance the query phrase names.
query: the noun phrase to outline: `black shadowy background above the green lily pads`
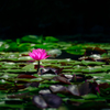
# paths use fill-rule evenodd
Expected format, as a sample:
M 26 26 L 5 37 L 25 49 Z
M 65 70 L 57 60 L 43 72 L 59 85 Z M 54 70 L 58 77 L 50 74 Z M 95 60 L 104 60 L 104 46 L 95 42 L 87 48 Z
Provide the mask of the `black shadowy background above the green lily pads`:
M 110 0 L 1 0 L 0 37 L 28 34 L 109 38 Z

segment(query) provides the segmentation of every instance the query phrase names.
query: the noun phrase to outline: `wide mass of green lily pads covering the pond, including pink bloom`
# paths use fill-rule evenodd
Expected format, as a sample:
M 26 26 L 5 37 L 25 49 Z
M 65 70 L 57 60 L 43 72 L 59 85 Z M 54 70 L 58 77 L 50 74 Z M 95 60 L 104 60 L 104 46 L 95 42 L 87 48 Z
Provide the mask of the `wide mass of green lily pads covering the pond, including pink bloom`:
M 67 43 L 59 42 L 53 36 L 43 40 L 42 36 L 33 35 L 15 42 L 1 42 L 0 109 L 102 110 L 110 108 L 110 45 L 108 43 Z M 18 44 L 18 50 L 10 46 L 12 43 Z M 24 50 L 26 44 L 30 45 Z M 23 45 L 22 51 L 20 45 Z M 63 55 L 63 51 L 70 56 L 81 56 L 78 59 L 66 56 L 64 59 L 58 58 Z

